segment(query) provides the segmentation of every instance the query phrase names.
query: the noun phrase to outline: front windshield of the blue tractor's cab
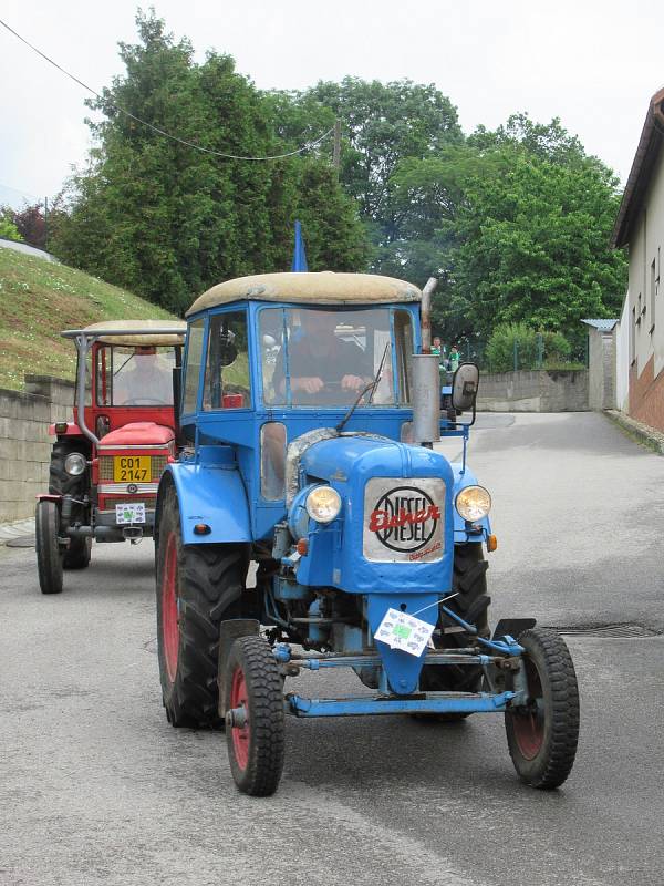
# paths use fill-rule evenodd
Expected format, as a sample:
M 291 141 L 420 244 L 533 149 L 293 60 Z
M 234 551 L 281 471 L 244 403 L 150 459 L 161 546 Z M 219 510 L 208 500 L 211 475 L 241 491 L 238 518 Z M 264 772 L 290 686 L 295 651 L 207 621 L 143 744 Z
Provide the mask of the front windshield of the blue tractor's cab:
M 409 401 L 413 333 L 405 310 L 266 308 L 259 330 L 263 399 L 270 405 L 349 406 L 381 365 L 378 384 L 360 405 Z

